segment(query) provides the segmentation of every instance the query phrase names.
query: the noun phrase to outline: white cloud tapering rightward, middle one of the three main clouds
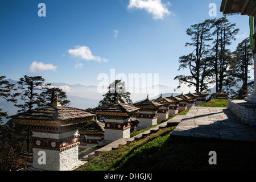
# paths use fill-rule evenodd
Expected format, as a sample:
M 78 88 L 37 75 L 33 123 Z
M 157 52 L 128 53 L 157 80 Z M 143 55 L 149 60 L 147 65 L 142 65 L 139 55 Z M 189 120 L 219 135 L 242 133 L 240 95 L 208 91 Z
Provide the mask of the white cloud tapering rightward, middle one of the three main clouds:
M 68 49 L 68 53 L 73 57 L 78 57 L 86 61 L 93 60 L 98 63 L 107 63 L 109 60 L 101 58 L 100 56 L 94 56 L 90 51 L 89 47 L 86 46 L 75 46 L 75 49 Z

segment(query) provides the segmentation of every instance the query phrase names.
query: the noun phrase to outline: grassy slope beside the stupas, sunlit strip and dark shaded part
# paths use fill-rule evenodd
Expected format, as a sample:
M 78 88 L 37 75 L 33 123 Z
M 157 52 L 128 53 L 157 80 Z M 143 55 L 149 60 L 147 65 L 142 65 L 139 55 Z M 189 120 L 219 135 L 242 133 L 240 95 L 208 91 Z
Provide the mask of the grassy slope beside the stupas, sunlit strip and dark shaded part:
M 220 101 L 207 104 L 223 107 Z M 222 102 L 226 102 L 223 101 Z M 175 127 L 160 129 L 117 150 L 91 156 L 79 171 L 191 171 L 255 170 L 255 142 L 177 137 Z M 217 165 L 210 165 L 209 152 L 216 151 Z

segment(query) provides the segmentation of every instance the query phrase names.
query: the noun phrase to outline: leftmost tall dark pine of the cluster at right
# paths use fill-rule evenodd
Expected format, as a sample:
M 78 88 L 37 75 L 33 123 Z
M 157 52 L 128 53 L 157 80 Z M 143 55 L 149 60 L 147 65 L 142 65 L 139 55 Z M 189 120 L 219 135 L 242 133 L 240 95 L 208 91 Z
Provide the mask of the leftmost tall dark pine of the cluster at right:
M 179 80 L 180 84 L 188 84 L 195 86 L 196 92 L 208 89 L 208 47 L 207 43 L 210 38 L 210 20 L 205 20 L 203 23 L 193 24 L 187 29 L 187 35 L 191 36 L 192 43 L 186 43 L 185 46 L 192 46 L 195 49 L 187 56 L 181 56 L 179 59 L 179 69 L 188 68 L 191 75 L 179 75 L 174 80 Z M 194 53 L 195 52 L 195 53 Z M 177 88 L 179 88 L 178 86 Z

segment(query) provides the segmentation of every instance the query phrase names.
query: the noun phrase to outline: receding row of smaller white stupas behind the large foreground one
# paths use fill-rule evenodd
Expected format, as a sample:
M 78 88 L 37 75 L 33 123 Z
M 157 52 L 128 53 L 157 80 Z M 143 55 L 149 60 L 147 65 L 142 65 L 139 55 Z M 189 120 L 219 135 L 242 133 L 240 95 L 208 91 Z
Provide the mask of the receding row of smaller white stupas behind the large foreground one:
M 217 96 L 220 97 L 223 94 L 226 93 L 218 93 Z M 80 150 L 96 144 L 113 142 L 119 138 L 130 138 L 131 130 L 145 129 L 156 125 L 158 121 L 167 119 L 170 115 L 203 104 L 206 102 L 207 96 L 209 94 L 205 92 L 181 93 L 176 97 L 172 94 L 167 98 L 161 94 L 155 100 L 150 100 L 147 97 L 146 100 L 133 105 L 117 101 L 115 104 L 98 107 L 96 113 L 104 117 L 105 122 L 93 122 L 79 130 Z M 225 96 L 222 97 L 225 98 Z

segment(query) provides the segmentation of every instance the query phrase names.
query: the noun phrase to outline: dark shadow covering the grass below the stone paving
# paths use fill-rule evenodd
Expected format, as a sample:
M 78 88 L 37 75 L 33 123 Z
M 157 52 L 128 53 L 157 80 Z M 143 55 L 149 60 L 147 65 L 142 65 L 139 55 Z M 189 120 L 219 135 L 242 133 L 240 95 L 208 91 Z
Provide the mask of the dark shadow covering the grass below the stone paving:
M 137 154 L 129 154 L 131 155 L 130 158 L 117 170 L 255 170 L 255 144 L 255 142 L 171 135 L 162 146 L 152 146 Z M 217 153 L 216 165 L 210 165 L 208 162 L 210 151 L 216 151 Z

